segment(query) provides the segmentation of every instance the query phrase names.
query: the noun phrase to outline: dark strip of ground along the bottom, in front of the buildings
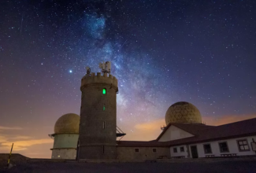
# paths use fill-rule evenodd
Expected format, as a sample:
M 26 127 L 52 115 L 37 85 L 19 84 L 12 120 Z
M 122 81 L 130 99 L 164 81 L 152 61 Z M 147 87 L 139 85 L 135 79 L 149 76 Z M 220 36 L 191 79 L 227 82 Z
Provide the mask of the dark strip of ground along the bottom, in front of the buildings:
M 11 168 L 4 168 L 0 164 L 0 172 L 35 172 L 35 173 L 79 173 L 79 172 L 104 172 L 104 173 L 143 173 L 143 172 L 241 172 L 256 173 L 255 158 L 239 159 L 195 159 L 195 160 L 158 160 L 158 162 L 137 162 L 137 163 L 77 163 L 76 161 L 52 161 L 52 160 L 33 160 L 20 156 L 13 157 Z

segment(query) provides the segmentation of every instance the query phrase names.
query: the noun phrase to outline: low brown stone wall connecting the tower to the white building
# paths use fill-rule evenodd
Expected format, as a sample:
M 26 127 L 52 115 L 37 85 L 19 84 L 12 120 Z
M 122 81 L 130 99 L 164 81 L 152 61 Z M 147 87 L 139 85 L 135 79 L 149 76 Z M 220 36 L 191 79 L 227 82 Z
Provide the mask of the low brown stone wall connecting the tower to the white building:
M 139 153 L 135 153 L 139 149 Z M 153 149 L 157 149 L 153 153 Z M 117 146 L 117 159 L 119 160 L 156 160 L 160 156 L 170 158 L 169 147 L 127 147 Z

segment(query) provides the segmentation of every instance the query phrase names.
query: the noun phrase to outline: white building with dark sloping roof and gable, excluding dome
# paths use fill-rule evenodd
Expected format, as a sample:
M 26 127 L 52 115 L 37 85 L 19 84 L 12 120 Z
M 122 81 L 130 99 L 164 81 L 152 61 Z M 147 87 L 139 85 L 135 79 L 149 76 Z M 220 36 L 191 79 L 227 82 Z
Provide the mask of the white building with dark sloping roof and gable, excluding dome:
M 167 142 L 171 158 L 255 155 L 256 118 L 213 127 L 169 123 L 158 142 Z

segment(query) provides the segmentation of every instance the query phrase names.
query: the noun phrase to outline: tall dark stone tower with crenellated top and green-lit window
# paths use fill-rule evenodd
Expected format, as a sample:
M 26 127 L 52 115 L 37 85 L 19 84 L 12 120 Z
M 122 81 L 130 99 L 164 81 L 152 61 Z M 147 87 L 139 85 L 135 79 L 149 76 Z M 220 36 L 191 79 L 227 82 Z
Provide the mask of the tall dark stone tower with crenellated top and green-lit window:
M 83 76 L 78 160 L 117 159 L 117 79 L 100 72 Z

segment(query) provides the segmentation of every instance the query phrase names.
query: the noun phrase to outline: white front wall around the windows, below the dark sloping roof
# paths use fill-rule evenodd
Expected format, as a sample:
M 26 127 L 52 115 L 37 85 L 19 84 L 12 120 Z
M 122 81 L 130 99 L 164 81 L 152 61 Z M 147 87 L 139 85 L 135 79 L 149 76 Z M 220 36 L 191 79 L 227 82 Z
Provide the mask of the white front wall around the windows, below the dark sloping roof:
M 248 145 L 249 145 L 249 151 L 239 151 L 239 145 L 237 144 L 237 140 L 240 139 L 247 139 Z M 250 136 L 245 138 L 232 138 L 227 140 L 220 140 L 215 142 L 204 142 L 197 144 L 198 149 L 198 157 L 206 157 L 206 155 L 214 155 L 214 156 L 221 156 L 221 150 L 219 147 L 219 142 L 227 142 L 228 143 L 228 153 L 236 153 L 237 156 L 247 156 L 247 155 L 255 155 L 255 152 L 251 149 L 252 138 L 254 138 L 254 141 L 256 142 L 256 136 Z M 206 154 L 203 149 L 204 144 L 210 144 L 212 149 L 212 154 Z M 190 145 L 191 146 L 191 145 Z

